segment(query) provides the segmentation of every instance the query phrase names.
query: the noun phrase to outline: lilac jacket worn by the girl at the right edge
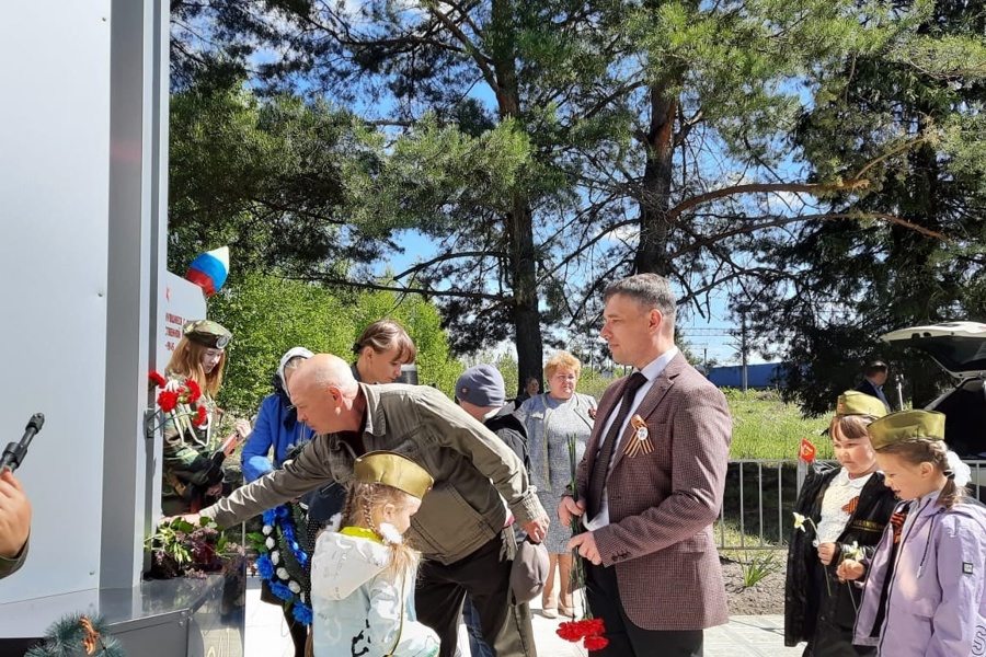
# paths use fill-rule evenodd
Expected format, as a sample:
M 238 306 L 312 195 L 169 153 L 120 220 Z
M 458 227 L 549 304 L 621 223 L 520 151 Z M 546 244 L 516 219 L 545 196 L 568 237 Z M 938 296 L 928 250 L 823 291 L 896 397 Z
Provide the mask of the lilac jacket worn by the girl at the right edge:
M 912 504 L 885 602 L 892 525 L 869 565 L 853 643 L 878 646 L 882 657 L 986 655 L 986 507 L 961 502 L 945 509 L 937 502 L 936 492 Z

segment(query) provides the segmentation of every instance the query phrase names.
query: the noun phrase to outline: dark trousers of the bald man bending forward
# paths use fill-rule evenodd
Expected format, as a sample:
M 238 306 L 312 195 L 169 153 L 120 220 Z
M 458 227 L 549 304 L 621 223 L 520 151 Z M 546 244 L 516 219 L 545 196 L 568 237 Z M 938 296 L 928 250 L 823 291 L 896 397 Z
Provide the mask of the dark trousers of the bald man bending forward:
M 509 532 L 509 529 L 504 532 Z M 459 636 L 459 619 L 466 593 L 479 614 L 486 644 L 495 657 L 537 657 L 530 608 L 515 604 L 511 596 L 513 552 L 504 557 L 505 541 L 514 537 L 496 537 L 469 556 L 444 565 L 425 561 L 417 577 L 414 607 L 417 620 L 438 633 L 439 657 L 454 657 Z M 509 558 L 507 558 L 509 557 Z

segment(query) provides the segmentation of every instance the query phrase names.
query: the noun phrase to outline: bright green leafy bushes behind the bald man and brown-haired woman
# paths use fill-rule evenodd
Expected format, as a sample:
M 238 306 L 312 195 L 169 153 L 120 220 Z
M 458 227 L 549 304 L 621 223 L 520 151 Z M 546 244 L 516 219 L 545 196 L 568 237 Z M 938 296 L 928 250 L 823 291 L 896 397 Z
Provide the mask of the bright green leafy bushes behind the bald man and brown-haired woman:
M 218 402 L 236 415 L 256 413 L 272 393 L 282 355 L 291 347 L 352 361 L 353 343 L 368 324 L 385 318 L 400 322 L 414 341 L 422 383 L 450 393 L 461 371 L 449 358 L 437 309 L 414 295 L 333 295 L 311 283 L 248 274 L 209 303 L 209 316 L 233 334 Z

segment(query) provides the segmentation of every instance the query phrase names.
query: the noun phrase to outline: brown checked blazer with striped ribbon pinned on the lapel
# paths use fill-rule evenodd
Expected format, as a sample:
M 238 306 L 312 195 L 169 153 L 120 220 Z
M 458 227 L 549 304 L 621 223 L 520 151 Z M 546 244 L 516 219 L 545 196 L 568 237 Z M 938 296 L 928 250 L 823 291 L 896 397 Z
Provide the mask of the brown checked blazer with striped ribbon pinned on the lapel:
M 578 465 L 585 499 L 599 434 L 615 413 L 627 378 L 599 402 Z M 676 355 L 635 411 L 654 451 L 628 457 L 630 423 L 607 483 L 610 525 L 596 530 L 604 566 L 616 568 L 627 615 L 645 630 L 703 630 L 729 620 L 712 523 L 725 485 L 733 423 L 722 392 Z

